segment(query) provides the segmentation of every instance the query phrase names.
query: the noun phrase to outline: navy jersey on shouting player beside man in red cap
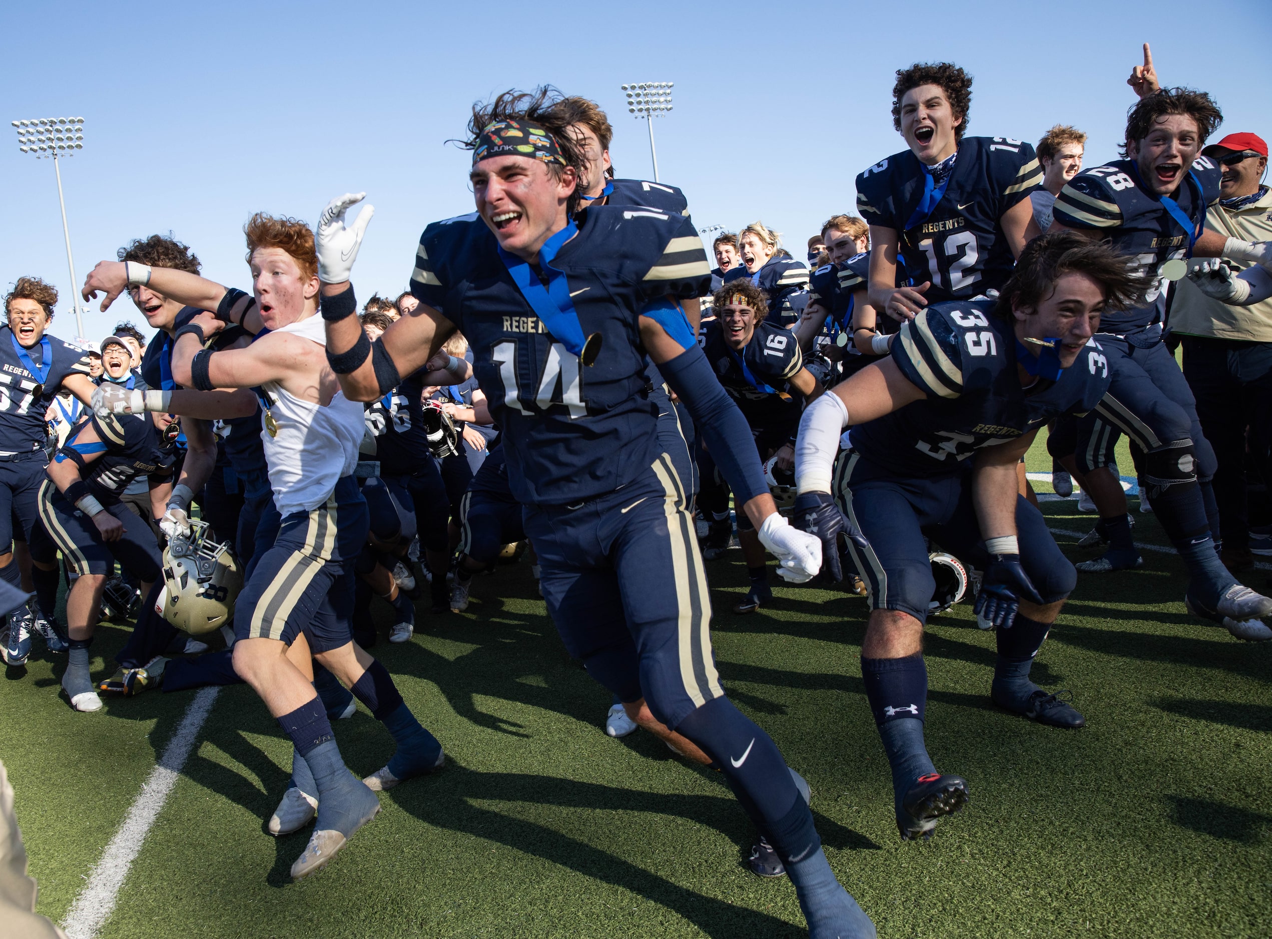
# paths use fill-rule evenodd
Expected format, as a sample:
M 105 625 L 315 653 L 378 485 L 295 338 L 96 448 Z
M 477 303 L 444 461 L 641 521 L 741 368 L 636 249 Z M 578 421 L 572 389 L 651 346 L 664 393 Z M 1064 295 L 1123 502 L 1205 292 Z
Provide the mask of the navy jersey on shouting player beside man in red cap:
M 1186 178 L 1174 198 L 1193 222 L 1205 224 L 1206 207 L 1219 198 L 1221 168 L 1208 156 L 1198 156 L 1189 175 L 1197 182 Z M 1166 211 L 1161 199 L 1144 187 L 1135 160 L 1113 160 L 1079 173 L 1060 191 L 1052 217 L 1071 229 L 1112 239 L 1114 248 L 1135 257 L 1145 278 L 1152 278 L 1147 304 L 1135 310 L 1105 313 L 1100 318 L 1102 333 L 1123 335 L 1165 321 L 1161 266 L 1188 257 L 1189 233 Z

